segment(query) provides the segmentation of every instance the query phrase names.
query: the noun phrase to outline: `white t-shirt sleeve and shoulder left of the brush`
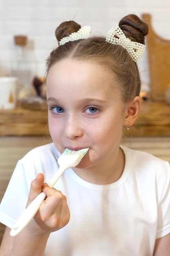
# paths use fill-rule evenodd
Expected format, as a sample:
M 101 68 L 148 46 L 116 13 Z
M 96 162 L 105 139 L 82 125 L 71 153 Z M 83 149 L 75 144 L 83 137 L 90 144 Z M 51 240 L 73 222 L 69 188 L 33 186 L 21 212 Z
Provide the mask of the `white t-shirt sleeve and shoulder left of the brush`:
M 13 227 L 25 210 L 31 182 L 38 173 L 43 173 L 45 182 L 49 182 L 58 169 L 60 155 L 50 143 L 32 149 L 18 161 L 0 204 L 0 222 Z

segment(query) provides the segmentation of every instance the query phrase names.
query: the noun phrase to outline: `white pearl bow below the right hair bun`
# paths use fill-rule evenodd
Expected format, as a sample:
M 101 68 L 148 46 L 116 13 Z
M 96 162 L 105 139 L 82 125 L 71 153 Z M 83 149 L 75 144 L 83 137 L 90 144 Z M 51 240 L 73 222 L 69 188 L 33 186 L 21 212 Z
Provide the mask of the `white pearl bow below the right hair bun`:
M 131 41 L 118 26 L 108 31 L 106 41 L 113 45 L 121 45 L 124 47 L 135 62 L 139 60 L 144 53 L 145 45 Z

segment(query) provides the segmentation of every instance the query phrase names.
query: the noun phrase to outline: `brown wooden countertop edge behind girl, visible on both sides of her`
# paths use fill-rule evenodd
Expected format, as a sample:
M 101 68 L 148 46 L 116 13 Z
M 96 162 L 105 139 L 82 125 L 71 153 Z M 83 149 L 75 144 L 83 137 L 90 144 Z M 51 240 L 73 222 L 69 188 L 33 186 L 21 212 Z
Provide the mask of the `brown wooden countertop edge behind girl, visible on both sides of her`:
M 0 110 L 0 136 L 49 135 L 48 111 L 27 109 L 21 106 L 13 110 Z M 170 136 L 170 105 L 164 101 L 143 101 L 136 123 L 125 129 L 125 136 Z

